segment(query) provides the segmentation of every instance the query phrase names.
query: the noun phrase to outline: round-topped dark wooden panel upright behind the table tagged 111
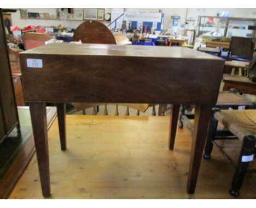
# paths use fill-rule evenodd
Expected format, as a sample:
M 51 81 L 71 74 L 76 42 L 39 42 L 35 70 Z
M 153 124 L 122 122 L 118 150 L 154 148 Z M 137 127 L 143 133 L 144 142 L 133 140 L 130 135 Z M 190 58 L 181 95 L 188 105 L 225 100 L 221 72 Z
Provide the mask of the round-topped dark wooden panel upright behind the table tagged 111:
M 117 44 L 112 32 L 98 21 L 85 21 L 75 29 L 73 41 L 83 44 Z

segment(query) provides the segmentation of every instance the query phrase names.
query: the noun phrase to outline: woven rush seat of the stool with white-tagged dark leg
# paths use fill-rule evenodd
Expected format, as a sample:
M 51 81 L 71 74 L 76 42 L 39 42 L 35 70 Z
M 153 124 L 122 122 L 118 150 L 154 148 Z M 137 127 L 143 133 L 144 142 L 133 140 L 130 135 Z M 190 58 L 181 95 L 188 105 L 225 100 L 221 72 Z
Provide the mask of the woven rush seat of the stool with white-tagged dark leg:
M 237 138 L 246 135 L 256 137 L 256 110 L 222 110 L 214 113 L 214 118 L 224 125 Z

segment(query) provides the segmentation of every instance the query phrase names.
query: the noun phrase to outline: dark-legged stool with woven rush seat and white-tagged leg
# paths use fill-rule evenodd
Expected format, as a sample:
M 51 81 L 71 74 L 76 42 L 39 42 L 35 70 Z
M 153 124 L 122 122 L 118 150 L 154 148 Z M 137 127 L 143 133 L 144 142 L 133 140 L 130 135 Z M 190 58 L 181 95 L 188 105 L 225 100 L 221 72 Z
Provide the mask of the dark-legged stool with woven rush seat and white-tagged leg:
M 220 111 L 218 108 L 213 108 L 212 114 L 213 117 L 210 123 L 210 131 L 208 133 L 205 145 L 205 154 L 203 155 L 203 158 L 205 158 L 205 160 L 210 160 L 213 142 L 214 140 L 218 139 L 216 137 L 218 121 L 222 123 L 227 130 L 234 134 L 236 138 L 242 140 L 243 142 L 237 163 L 232 161 L 231 158 L 225 154 L 223 149 L 221 149 L 217 145 L 218 148 L 222 150 L 221 152 L 236 168 L 236 172 L 232 179 L 230 194 L 234 197 L 237 197 L 239 195 L 243 179 L 245 178 L 249 162 L 253 160 L 253 154 L 255 153 L 254 148 L 256 143 L 256 110 L 251 109 L 242 111 Z M 256 172 L 256 170 L 251 170 L 250 172 Z

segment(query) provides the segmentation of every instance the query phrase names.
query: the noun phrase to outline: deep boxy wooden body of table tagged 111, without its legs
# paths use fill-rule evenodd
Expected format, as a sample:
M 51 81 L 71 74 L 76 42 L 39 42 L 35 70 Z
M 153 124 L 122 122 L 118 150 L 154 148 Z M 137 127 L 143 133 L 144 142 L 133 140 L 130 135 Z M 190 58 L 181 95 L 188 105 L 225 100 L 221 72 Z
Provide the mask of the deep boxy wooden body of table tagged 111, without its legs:
M 20 53 L 27 102 L 217 101 L 224 66 L 217 57 L 190 48 L 74 44 L 67 51 L 68 45 L 50 45 Z M 27 58 L 43 59 L 43 68 L 27 68 Z

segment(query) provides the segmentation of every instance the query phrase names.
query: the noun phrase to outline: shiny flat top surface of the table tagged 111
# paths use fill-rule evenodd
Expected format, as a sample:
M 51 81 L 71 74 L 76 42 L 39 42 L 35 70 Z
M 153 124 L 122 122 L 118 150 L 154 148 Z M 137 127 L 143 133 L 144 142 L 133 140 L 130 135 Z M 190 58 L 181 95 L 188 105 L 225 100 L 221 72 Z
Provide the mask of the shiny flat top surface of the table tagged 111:
M 161 58 L 192 58 L 222 60 L 208 56 L 190 48 L 166 48 L 139 45 L 113 45 L 113 44 L 48 44 L 24 51 L 20 54 L 54 54 L 54 55 L 97 55 L 97 56 L 129 56 L 129 57 L 161 57 Z

